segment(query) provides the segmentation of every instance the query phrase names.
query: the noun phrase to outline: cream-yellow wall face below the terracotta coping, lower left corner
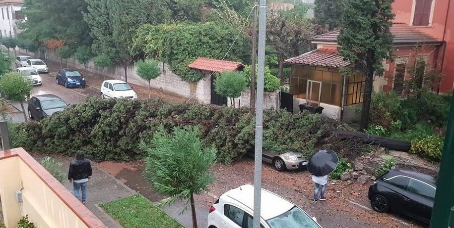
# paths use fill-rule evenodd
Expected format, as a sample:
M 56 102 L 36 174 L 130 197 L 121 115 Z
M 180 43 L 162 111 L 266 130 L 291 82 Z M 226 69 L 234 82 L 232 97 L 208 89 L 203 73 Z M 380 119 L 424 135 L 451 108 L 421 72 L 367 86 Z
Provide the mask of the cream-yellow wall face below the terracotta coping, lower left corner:
M 20 181 L 24 188 L 22 215 L 28 215 L 37 228 L 87 227 L 18 156 L 1 159 L 0 174 L 0 197 L 6 228 L 15 228 L 21 217 L 14 193 L 20 189 Z

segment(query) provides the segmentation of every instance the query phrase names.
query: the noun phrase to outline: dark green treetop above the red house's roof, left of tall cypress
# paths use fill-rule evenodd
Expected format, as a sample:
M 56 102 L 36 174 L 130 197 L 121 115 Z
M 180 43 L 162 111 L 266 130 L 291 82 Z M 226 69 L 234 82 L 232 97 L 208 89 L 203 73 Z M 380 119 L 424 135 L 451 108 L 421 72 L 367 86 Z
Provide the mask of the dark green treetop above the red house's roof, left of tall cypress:
M 314 23 L 327 25 L 329 30 L 339 28 L 342 17 L 342 0 L 315 0 Z

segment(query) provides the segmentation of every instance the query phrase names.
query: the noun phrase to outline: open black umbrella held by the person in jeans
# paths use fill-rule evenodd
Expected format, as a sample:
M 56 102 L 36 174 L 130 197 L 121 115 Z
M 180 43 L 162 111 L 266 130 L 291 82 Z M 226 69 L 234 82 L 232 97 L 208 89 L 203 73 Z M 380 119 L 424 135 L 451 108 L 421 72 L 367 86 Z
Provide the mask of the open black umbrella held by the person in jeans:
M 326 176 L 337 167 L 339 162 L 339 157 L 332 150 L 319 150 L 317 153 L 313 154 L 308 162 L 308 171 L 316 176 L 323 177 Z

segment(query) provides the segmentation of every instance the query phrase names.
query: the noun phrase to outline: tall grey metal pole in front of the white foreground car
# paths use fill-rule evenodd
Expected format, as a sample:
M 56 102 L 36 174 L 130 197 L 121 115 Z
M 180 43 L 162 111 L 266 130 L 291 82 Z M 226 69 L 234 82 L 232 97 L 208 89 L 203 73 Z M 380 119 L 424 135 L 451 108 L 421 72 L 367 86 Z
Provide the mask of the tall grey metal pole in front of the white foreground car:
M 266 0 L 259 6 L 259 77 L 257 78 L 256 156 L 254 167 L 254 228 L 260 228 L 261 155 L 263 141 L 263 81 L 265 70 Z

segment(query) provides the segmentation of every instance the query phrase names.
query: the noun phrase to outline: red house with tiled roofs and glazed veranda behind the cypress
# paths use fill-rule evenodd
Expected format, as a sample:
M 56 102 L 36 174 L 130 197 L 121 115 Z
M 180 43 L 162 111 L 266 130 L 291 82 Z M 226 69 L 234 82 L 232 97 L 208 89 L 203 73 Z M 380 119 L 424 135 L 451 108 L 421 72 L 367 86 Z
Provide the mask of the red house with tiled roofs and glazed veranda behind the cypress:
M 454 65 L 449 62 L 454 61 L 454 55 L 450 54 L 451 48 L 454 51 L 451 44 L 454 31 L 450 28 L 454 26 L 450 27 L 449 23 L 454 23 L 454 18 L 450 21 L 449 15 L 454 14 L 448 10 L 449 1 L 399 0 L 393 4 L 396 19 L 390 31 L 394 59 L 383 62 L 384 77 L 374 77 L 375 91 L 402 91 L 404 81 L 411 77 L 409 71 L 414 68 L 416 58 L 426 63 L 426 70 L 436 69 L 442 73 L 442 80 L 434 83 L 434 91 L 453 91 Z M 290 93 L 296 111 L 300 104 L 322 106 L 322 115 L 351 121 L 357 118 L 354 107 L 363 101 L 365 78 L 339 74 L 339 70 L 350 63 L 337 53 L 338 35 L 339 31 L 333 31 L 313 37 L 316 50 L 286 60 L 292 67 Z

